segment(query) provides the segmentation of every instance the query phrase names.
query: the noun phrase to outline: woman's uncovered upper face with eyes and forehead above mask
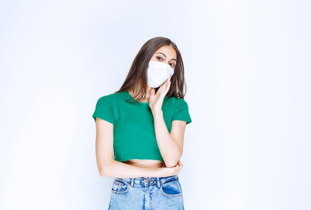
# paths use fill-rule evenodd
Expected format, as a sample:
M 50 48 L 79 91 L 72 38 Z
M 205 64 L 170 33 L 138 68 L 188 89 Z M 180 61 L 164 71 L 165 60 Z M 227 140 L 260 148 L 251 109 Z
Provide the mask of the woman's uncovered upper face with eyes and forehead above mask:
M 172 67 L 172 69 L 175 69 L 175 65 L 177 62 L 176 56 L 177 55 L 174 48 L 170 46 L 162 46 L 156 50 L 151 60 L 167 63 Z

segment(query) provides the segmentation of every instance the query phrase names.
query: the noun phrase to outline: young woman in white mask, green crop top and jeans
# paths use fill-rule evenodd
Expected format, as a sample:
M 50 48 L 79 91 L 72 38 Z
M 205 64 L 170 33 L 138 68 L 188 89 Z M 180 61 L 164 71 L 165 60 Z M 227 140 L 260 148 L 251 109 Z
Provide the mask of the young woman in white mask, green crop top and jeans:
M 119 91 L 98 99 L 96 161 L 114 177 L 109 210 L 183 210 L 177 174 L 186 124 L 184 68 L 169 39 L 147 41 Z

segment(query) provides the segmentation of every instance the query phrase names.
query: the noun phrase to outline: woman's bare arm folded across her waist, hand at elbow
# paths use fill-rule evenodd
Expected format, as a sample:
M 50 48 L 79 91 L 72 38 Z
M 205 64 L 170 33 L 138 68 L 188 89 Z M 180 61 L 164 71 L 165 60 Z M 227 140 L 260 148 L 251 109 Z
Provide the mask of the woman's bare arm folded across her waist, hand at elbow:
M 113 124 L 96 117 L 96 162 L 100 176 L 114 178 L 165 177 L 179 173 L 180 161 L 174 167 L 143 168 L 114 160 Z

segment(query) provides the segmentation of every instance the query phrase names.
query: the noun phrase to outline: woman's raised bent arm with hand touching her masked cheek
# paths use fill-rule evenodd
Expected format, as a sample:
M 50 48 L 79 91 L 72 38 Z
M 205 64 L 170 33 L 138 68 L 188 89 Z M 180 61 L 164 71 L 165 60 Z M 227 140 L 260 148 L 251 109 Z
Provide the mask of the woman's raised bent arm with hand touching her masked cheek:
M 162 104 L 170 87 L 170 78 L 159 87 L 157 92 L 151 88 L 149 99 L 149 106 L 154 116 L 156 141 L 166 167 L 174 167 L 180 159 L 186 129 L 186 121 L 173 120 L 169 133 L 164 122 Z

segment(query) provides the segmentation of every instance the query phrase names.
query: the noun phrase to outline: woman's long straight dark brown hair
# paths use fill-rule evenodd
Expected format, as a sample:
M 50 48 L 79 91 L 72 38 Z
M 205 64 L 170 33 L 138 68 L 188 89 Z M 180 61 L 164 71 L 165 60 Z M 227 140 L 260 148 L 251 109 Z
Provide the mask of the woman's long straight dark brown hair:
M 143 45 L 143 47 L 137 53 L 132 63 L 132 66 L 130 68 L 130 71 L 124 83 L 122 84 L 120 90 L 118 90 L 115 93 L 123 92 L 131 88 L 133 88 L 134 93 L 135 93 L 136 86 L 140 86 L 138 87 L 139 92 L 137 93 L 136 96 L 133 96 L 133 98 L 136 98 L 137 101 L 144 100 L 146 97 L 146 92 L 147 92 L 147 84 L 148 84 L 147 83 L 147 68 L 149 65 L 149 61 L 151 60 L 156 50 L 162 46 L 170 46 L 174 48 L 174 50 L 176 51 L 176 55 L 177 55 L 176 57 L 177 61 L 176 61 L 176 65 L 174 68 L 174 74 L 170 78 L 171 84 L 170 84 L 170 88 L 166 96 L 184 99 L 185 93 L 184 93 L 183 88 L 185 86 L 185 92 L 186 92 L 187 86 L 184 80 L 184 66 L 183 66 L 181 54 L 176 44 L 173 43 L 170 39 L 165 38 L 165 37 L 152 38 Z M 157 92 L 158 89 L 159 87 L 155 88 L 155 91 Z

